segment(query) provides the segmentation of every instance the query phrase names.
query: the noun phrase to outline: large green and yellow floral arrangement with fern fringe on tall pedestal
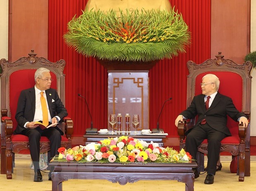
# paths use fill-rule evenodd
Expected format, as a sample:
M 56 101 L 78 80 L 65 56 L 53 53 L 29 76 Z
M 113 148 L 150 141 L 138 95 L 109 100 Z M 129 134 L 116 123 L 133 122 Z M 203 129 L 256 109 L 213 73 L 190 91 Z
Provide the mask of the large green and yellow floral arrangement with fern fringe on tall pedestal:
M 85 11 L 68 23 L 64 40 L 78 53 L 109 61 L 154 61 L 178 56 L 190 32 L 174 9 Z

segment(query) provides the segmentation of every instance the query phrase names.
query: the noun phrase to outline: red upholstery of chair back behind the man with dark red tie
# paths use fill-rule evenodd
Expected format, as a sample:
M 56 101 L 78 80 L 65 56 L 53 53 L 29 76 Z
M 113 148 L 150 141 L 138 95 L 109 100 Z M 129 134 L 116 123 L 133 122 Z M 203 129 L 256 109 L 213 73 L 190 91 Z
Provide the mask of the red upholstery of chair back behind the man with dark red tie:
M 200 83 L 202 77 L 206 74 L 214 74 L 220 80 L 220 87 L 218 92 L 232 98 L 233 103 L 239 112 L 243 111 L 243 79 L 242 77 L 233 71 L 207 71 L 199 73 L 195 78 L 195 90 L 194 95 L 202 93 Z M 228 116 L 227 126 L 232 135 L 238 135 L 237 121 L 234 121 Z

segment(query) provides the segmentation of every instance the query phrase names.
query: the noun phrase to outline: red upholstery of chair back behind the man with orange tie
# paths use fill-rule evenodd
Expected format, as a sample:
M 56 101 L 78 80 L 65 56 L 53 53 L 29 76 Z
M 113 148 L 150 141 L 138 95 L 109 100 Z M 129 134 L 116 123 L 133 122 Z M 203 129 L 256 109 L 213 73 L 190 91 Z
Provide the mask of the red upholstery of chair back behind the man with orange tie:
M 10 111 L 10 117 L 12 118 L 13 122 L 13 130 L 17 127 L 17 121 L 15 119 L 15 114 L 17 110 L 17 103 L 19 99 L 19 95 L 22 90 L 29 89 L 35 86 L 35 72 L 37 68 L 35 69 L 20 69 L 20 70 L 14 70 L 10 75 L 8 79 L 8 91 L 9 91 L 9 111 Z M 52 76 L 52 84 L 51 88 L 57 89 L 57 76 L 54 72 L 50 72 Z

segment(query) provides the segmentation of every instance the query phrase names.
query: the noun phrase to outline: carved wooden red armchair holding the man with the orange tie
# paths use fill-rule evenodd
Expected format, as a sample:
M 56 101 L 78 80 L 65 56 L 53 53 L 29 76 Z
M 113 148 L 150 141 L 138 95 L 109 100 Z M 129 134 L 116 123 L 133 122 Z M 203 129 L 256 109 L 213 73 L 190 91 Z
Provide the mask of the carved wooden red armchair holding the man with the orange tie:
M 55 88 L 59 98 L 65 104 L 65 76 L 63 70 L 65 61 L 59 60 L 52 63 L 45 58 L 38 58 L 33 50 L 28 57 L 21 57 L 15 62 L 1 59 L 1 174 L 6 174 L 7 179 L 12 179 L 14 154 L 29 153 L 28 137 L 25 135 L 13 135 L 17 127 L 15 119 L 17 102 L 21 90 L 35 85 L 34 74 L 38 68 L 50 70 L 53 82 L 51 88 Z M 71 148 L 71 135 L 73 133 L 73 121 L 69 117 L 58 127 L 64 132 L 61 147 Z M 26 151 L 26 152 L 24 152 Z M 47 137 L 41 137 L 40 152 L 48 152 L 50 157 L 50 141 Z

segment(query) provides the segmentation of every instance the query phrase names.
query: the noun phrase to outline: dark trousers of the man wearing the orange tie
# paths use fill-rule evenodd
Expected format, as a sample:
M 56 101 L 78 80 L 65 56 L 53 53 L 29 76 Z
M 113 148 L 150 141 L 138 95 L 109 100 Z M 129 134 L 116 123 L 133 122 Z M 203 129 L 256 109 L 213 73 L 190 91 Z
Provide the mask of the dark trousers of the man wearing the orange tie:
M 57 127 L 56 127 L 57 128 Z M 29 139 L 29 149 L 31 159 L 34 164 L 34 171 L 39 170 L 39 156 L 40 156 L 40 138 L 45 136 L 50 140 L 50 158 L 54 157 L 58 153 L 58 149 L 61 143 L 61 135 L 55 127 L 50 127 L 44 130 L 37 128 L 26 128 L 21 132 L 22 135 L 28 136 Z M 48 158 L 48 162 L 50 162 Z

